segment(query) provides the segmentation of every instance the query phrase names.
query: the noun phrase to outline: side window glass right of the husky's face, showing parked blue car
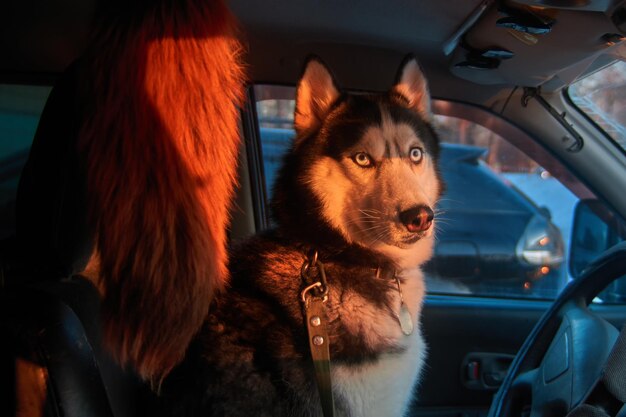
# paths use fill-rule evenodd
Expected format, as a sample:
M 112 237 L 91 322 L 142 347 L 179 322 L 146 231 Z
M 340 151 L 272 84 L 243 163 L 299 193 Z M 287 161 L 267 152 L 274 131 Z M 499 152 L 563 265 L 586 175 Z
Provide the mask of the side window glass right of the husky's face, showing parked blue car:
M 565 242 L 576 195 L 481 125 L 443 115 L 435 125 L 448 189 L 426 265 L 431 291 L 454 283 L 468 294 L 554 298 L 570 279 Z

